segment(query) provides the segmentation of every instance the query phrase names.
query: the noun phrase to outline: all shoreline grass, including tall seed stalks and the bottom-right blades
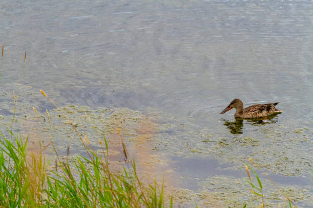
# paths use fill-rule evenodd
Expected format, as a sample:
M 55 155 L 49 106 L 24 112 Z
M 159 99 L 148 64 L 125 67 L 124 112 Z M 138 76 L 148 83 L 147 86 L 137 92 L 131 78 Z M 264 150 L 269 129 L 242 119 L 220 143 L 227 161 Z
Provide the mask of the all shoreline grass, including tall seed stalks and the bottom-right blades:
M 87 137 L 84 139 L 78 132 L 76 125 L 62 112 L 60 108 L 47 97 L 58 111 L 67 119 L 63 125 L 70 125 L 80 138 L 86 151 L 86 157 L 78 155 L 70 158 L 70 147 L 67 148 L 65 157 L 59 155 L 53 142 L 53 134 L 49 133 L 50 142 L 36 152 L 28 151 L 28 138 L 12 133 L 6 137 L 1 134 L 0 139 L 0 207 L 173 207 L 173 196 L 165 196 L 164 183 L 159 186 L 154 184 L 146 186 L 139 179 L 136 163 L 130 158 L 122 134 L 116 128 L 124 155 L 125 164 L 129 168 L 123 168 L 116 173 L 110 169 L 109 147 L 106 138 L 99 140 L 101 151 L 94 150 Z M 14 113 L 17 98 L 13 92 Z M 33 110 L 37 112 L 35 108 Z M 47 120 L 51 127 L 49 112 Z M 44 127 L 45 128 L 45 127 Z M 46 129 L 46 128 L 45 128 Z M 49 132 L 46 129 L 46 132 Z M 10 139 L 9 139 L 10 138 Z M 43 151 L 52 146 L 55 160 L 46 161 Z M 260 169 L 251 159 L 252 164 Z M 267 207 L 261 180 L 256 171 L 253 171 L 255 180 L 252 179 L 248 166 L 246 166 L 251 185 L 250 190 L 260 200 L 258 207 Z M 266 177 L 268 177 L 266 175 Z M 269 178 L 270 179 L 270 178 Z M 271 180 L 271 179 L 270 179 Z M 273 182 L 273 181 L 272 181 Z M 273 184 L 277 186 L 274 182 Z M 277 186 L 285 197 L 283 207 L 297 207 L 283 191 Z M 247 190 L 248 191 L 248 190 Z M 243 203 L 244 204 L 244 203 Z M 180 207 L 180 205 L 177 205 Z M 197 206 L 197 205 L 195 205 Z M 280 205 L 279 205 L 280 206 Z M 250 207 L 244 204 L 243 207 Z

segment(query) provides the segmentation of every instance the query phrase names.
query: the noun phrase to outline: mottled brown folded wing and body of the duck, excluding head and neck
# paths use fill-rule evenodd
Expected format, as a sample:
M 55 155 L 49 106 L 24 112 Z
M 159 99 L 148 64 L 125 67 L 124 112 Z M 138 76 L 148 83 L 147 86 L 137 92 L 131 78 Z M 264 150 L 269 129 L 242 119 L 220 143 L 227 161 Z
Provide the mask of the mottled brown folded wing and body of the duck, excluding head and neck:
M 256 118 L 268 116 L 273 113 L 280 113 L 281 111 L 275 108 L 278 103 L 279 102 L 249 106 L 248 108 L 243 109 L 243 114 L 250 118 Z

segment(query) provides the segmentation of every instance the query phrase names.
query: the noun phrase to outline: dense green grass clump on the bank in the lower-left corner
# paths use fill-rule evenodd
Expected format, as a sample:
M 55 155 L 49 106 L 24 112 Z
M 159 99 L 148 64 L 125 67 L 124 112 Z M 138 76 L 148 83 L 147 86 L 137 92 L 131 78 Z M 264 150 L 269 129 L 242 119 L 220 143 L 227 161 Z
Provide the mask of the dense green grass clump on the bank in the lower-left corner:
M 107 155 L 86 149 L 91 158 L 75 157 L 74 165 L 57 161 L 47 170 L 41 154 L 27 155 L 28 139 L 12 136 L 12 141 L 3 134 L 0 139 L 0 207 L 173 206 L 172 199 L 165 205 L 163 186 L 142 187 L 133 162 L 131 171 L 117 175 Z M 105 138 L 104 143 L 107 149 Z

